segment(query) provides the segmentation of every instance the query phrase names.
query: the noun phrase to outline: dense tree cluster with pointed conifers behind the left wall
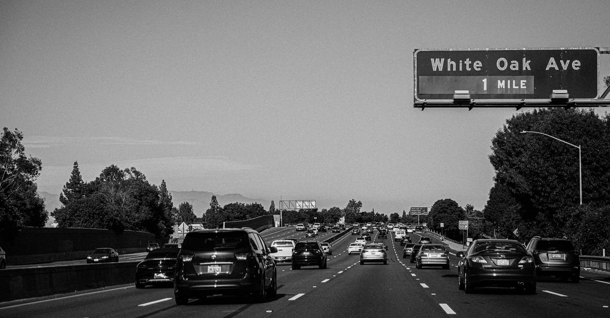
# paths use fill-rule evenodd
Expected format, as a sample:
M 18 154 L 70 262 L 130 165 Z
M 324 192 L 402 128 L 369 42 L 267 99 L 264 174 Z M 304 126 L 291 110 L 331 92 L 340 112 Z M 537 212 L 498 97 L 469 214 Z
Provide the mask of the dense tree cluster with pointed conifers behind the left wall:
M 149 231 L 159 237 L 173 233 L 173 203 L 165 181 L 151 185 L 135 168 L 111 165 L 84 182 L 74 162 L 60 201 L 62 207 L 51 213 L 58 227 Z

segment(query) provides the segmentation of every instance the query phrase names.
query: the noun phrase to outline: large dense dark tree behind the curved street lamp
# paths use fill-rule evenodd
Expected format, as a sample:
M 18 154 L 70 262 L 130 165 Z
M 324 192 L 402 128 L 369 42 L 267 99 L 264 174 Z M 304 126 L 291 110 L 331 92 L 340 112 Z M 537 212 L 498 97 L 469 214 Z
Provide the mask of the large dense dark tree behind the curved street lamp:
M 578 215 L 562 213 L 579 203 L 578 152 L 542 132 L 582 150 L 583 202 L 595 207 L 610 204 L 610 116 L 600 119 L 592 110 L 549 108 L 521 113 L 506 121 L 492 140 L 489 159 L 519 216 L 520 230 L 529 235 L 561 236 Z M 491 199 L 491 198 L 490 198 Z M 489 204 L 496 204 L 488 202 Z M 580 210 L 575 210 L 580 213 Z

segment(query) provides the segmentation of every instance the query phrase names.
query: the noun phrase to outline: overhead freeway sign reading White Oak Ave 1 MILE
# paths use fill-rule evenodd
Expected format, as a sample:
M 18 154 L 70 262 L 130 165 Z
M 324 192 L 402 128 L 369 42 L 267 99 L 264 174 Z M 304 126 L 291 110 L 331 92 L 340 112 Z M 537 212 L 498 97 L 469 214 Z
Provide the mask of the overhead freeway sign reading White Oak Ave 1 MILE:
M 525 48 L 414 51 L 415 101 L 453 99 L 548 99 L 567 90 L 570 99 L 598 96 L 597 48 Z

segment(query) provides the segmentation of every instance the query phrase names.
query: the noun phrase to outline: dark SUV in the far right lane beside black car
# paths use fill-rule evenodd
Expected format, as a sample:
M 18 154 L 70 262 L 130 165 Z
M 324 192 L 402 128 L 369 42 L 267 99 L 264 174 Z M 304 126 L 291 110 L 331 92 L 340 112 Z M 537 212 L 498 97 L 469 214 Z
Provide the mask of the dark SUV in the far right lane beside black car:
M 562 280 L 580 281 L 580 257 L 569 239 L 534 236 L 526 247 L 534 256 L 536 275 L 556 276 Z

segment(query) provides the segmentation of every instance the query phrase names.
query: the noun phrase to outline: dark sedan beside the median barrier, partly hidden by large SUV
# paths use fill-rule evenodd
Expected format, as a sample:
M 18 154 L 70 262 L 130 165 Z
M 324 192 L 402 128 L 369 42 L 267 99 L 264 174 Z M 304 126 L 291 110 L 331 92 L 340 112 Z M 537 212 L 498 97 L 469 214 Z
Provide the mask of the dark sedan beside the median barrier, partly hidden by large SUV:
M 178 252 L 178 247 L 149 252 L 135 267 L 135 288 L 144 288 L 147 284 L 173 283 Z

